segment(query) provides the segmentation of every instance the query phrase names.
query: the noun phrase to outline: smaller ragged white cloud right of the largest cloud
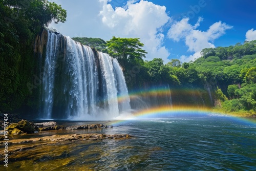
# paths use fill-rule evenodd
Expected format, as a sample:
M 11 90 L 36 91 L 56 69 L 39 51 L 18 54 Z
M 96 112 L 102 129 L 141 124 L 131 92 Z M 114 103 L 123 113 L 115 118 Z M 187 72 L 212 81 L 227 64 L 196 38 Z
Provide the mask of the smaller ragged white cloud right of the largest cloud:
M 180 57 L 182 62 L 195 60 L 200 57 L 200 52 L 204 48 L 215 48 L 214 40 L 225 34 L 225 31 L 231 29 L 225 23 L 217 22 L 209 27 L 207 31 L 201 31 L 197 28 L 203 21 L 202 17 L 198 18 L 197 23 L 193 26 L 189 24 L 189 18 L 183 18 L 179 22 L 173 22 L 168 30 L 167 36 L 174 41 L 185 40 L 189 52 L 194 52 L 193 55 Z

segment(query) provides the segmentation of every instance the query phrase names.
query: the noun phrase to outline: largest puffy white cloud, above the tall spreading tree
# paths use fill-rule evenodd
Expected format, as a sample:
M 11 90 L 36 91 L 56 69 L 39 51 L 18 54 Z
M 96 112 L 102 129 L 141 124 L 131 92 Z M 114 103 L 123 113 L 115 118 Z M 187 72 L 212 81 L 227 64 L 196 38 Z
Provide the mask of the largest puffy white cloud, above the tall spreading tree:
M 108 0 L 99 0 L 102 10 L 99 13 L 102 23 L 113 36 L 139 37 L 148 54 L 147 60 L 162 58 L 168 62 L 169 52 L 163 46 L 164 34 L 161 28 L 169 21 L 166 7 L 141 0 L 138 3 L 128 1 L 124 7 L 113 9 Z

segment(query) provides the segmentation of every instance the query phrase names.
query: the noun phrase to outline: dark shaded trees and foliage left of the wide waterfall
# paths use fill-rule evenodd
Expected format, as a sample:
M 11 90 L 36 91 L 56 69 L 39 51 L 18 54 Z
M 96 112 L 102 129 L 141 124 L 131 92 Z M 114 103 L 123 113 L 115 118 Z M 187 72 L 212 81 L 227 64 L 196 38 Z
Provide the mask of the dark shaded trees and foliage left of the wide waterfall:
M 47 0 L 0 0 L 0 111 L 29 105 L 35 57 L 33 42 L 52 21 L 65 22 L 66 10 Z

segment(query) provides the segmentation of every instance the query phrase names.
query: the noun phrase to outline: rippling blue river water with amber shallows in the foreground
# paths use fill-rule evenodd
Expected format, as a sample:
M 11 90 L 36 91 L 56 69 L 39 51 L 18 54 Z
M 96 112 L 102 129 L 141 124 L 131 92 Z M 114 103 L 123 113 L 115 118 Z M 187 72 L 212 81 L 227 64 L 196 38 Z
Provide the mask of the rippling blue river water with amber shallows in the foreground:
M 130 134 L 134 137 L 39 146 L 10 155 L 8 169 L 256 170 L 255 122 L 231 117 L 193 117 L 112 124 L 113 129 L 72 133 Z

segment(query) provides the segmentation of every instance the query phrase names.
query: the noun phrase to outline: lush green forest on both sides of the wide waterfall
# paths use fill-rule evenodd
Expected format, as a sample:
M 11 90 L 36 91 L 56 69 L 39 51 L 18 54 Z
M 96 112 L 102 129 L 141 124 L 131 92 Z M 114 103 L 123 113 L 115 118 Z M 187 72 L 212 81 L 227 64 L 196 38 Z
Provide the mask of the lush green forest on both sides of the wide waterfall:
M 0 111 L 35 108 L 35 94 L 28 89 L 37 65 L 35 37 L 52 21 L 65 22 L 66 10 L 46 0 L 0 0 L 0 8 Z M 203 49 L 195 61 L 171 59 L 164 64 L 161 56 L 146 60 L 139 38 L 73 39 L 117 58 L 130 92 L 168 85 L 176 92 L 172 96 L 177 104 L 206 105 L 241 116 L 256 114 L 256 40 Z

